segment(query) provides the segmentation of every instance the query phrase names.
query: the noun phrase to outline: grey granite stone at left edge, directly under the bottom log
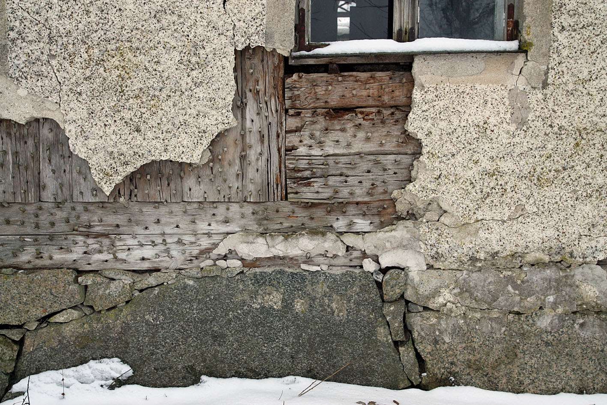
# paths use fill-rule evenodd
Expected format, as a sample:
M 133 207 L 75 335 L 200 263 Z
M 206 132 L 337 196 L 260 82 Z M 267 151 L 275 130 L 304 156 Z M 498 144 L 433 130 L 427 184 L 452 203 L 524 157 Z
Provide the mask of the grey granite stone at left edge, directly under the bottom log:
M 73 270 L 0 274 L 0 324 L 21 325 L 83 301 Z

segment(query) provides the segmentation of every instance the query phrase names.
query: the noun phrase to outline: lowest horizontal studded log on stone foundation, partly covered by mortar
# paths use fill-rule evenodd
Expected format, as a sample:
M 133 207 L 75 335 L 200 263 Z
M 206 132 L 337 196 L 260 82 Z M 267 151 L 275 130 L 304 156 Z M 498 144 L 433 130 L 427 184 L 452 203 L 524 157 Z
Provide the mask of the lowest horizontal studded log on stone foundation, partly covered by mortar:
M 14 268 L 160 270 L 197 268 L 226 235 L 0 236 L 0 261 Z M 361 266 L 359 251 L 344 256 L 269 257 L 243 260 L 245 267 L 327 264 Z

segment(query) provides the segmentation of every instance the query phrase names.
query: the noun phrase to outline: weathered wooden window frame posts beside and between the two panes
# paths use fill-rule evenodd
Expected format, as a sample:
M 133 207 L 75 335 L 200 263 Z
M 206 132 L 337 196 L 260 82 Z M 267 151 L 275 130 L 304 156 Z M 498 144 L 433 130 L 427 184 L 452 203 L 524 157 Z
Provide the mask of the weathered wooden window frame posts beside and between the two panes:
M 504 39 L 512 41 L 517 36 L 518 25 L 514 19 L 515 0 L 504 2 Z M 419 29 L 419 1 L 393 0 L 392 39 L 398 42 L 415 41 Z M 297 51 L 310 51 L 326 46 L 310 42 L 310 0 L 298 0 L 297 4 Z

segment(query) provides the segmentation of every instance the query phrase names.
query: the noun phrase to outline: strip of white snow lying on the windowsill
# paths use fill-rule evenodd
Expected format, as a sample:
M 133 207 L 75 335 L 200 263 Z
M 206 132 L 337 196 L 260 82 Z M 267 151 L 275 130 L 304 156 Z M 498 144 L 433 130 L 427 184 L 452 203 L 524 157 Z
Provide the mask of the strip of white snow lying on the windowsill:
M 353 39 L 330 42 L 310 52 L 293 52 L 293 56 L 343 55 L 345 53 L 420 53 L 420 52 L 508 52 L 518 50 L 518 41 L 486 39 L 419 38 L 412 42 L 392 39 Z

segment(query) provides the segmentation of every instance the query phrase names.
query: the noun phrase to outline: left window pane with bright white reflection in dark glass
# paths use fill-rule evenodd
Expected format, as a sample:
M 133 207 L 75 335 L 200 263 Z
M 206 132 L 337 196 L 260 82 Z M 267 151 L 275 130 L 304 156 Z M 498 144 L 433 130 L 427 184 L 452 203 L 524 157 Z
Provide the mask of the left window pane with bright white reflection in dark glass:
M 310 40 L 392 38 L 390 0 L 310 0 Z

